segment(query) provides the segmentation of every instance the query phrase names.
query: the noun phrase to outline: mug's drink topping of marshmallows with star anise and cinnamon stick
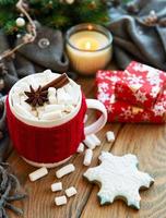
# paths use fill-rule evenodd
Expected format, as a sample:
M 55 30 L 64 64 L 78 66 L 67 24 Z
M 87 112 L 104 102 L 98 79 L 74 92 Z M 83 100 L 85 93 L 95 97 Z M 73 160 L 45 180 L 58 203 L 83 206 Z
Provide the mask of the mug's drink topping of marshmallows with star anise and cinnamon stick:
M 49 122 L 51 125 L 52 122 L 68 118 L 69 113 L 76 110 L 81 89 L 76 83 L 63 75 L 46 70 L 17 82 L 10 93 L 13 113 L 22 121 L 28 120 L 32 124 L 34 121 L 38 122 L 37 126 L 44 123 L 49 125 Z M 63 78 L 57 86 L 54 82 L 60 77 Z

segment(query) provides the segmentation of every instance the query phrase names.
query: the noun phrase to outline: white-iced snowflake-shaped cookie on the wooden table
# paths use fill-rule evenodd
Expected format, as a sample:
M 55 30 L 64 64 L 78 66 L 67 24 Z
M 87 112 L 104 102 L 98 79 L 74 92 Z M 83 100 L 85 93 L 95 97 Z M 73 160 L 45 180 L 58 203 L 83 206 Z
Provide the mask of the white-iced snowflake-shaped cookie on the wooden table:
M 102 164 L 90 168 L 84 177 L 90 182 L 99 182 L 98 197 L 100 204 L 112 203 L 115 198 L 126 198 L 128 206 L 140 209 L 140 187 L 150 187 L 154 179 L 138 170 L 138 158 L 128 154 L 121 157 L 103 152 L 99 156 Z

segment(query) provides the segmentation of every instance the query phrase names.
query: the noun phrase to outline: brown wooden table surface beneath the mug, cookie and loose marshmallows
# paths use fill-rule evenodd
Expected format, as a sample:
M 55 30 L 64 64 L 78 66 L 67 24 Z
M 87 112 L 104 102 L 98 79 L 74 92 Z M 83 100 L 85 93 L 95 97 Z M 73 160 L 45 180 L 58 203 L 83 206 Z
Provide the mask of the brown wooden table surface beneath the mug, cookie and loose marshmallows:
M 86 97 L 94 97 L 95 84 L 93 78 L 80 78 Z M 88 112 L 88 122 L 95 119 L 95 112 Z M 107 143 L 105 133 L 114 131 L 116 141 Z M 69 162 L 72 162 L 76 170 L 62 178 L 60 181 L 67 189 L 74 185 L 78 190 L 76 196 L 71 197 L 68 204 L 57 207 L 54 204 L 55 196 L 63 192 L 52 193 L 50 185 L 59 181 L 55 172 L 59 168 L 49 170 L 47 177 L 31 182 L 28 173 L 36 168 L 27 165 L 13 150 L 8 158 L 13 171 L 19 177 L 22 186 L 28 197 L 15 203 L 24 208 L 25 218 L 166 218 L 166 125 L 153 124 L 120 124 L 107 123 L 97 133 L 102 145 L 94 150 L 91 167 L 98 164 L 98 156 L 102 150 L 108 150 L 116 155 L 127 153 L 135 154 L 140 161 L 140 169 L 149 172 L 155 179 L 154 185 L 146 191 L 141 191 L 141 209 L 138 211 L 128 207 L 122 201 L 117 199 L 114 204 L 99 206 L 97 198 L 98 186 L 88 183 L 83 179 L 87 167 L 83 166 L 83 154 L 74 155 Z M 47 149 L 47 145 L 46 145 Z M 15 215 L 9 213 L 11 218 Z

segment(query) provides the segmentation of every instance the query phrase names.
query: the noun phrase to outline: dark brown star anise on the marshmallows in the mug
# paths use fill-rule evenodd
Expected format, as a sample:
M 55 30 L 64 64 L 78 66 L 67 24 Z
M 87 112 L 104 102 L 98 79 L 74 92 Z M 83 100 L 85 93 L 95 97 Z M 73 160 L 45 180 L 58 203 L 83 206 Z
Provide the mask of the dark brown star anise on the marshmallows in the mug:
M 44 102 L 48 101 L 47 95 L 48 90 L 43 90 L 42 86 L 39 86 L 36 90 L 29 86 L 31 92 L 25 92 L 25 95 L 28 97 L 25 101 L 31 104 L 33 107 L 43 106 Z

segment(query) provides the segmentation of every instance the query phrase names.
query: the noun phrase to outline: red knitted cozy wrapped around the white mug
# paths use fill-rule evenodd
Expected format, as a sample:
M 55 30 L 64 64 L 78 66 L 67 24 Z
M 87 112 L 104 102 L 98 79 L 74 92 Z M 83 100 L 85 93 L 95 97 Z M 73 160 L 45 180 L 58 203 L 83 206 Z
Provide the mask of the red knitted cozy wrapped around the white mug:
M 85 138 L 85 112 L 83 96 L 81 109 L 72 120 L 55 128 L 37 128 L 15 118 L 7 99 L 7 120 L 13 146 L 21 156 L 35 162 L 54 164 L 73 155 Z

